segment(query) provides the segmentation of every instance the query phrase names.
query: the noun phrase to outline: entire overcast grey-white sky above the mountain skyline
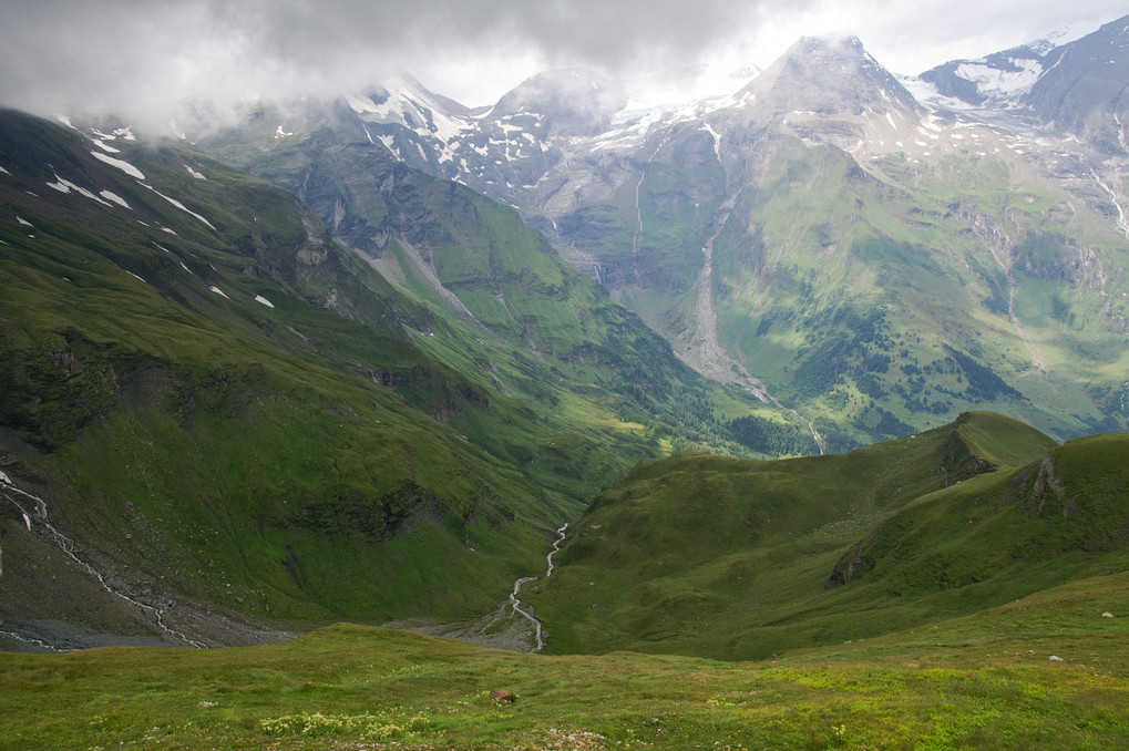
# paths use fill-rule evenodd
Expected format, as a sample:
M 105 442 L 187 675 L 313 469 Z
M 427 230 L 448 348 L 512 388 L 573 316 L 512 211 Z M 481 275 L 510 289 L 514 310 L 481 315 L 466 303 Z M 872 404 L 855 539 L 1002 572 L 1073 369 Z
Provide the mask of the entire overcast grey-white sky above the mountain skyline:
M 1126 11 L 1124 0 L 0 0 L 0 104 L 167 119 L 201 97 L 356 90 L 402 69 L 476 106 L 549 68 L 764 67 L 805 34 L 859 36 L 886 68 L 918 73 Z

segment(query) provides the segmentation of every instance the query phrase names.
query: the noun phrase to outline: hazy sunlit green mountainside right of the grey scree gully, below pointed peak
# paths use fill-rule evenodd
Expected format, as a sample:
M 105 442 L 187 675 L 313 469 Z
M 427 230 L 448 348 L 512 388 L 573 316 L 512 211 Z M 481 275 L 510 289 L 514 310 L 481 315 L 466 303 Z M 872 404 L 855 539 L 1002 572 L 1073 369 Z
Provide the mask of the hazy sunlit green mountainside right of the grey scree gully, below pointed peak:
M 864 172 L 790 138 L 758 148 L 763 174 L 716 243 L 718 328 L 781 398 L 856 440 L 966 409 L 1061 436 L 1124 428 L 1112 269 L 1126 248 L 1111 224 L 1069 220 L 1070 197 L 999 159 Z

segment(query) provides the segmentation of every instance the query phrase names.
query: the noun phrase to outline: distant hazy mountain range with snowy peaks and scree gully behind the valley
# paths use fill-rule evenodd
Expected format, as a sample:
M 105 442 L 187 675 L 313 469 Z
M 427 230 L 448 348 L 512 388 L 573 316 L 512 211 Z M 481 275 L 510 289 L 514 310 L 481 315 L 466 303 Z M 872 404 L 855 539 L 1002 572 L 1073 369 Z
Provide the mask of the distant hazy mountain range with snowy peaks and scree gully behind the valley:
M 394 158 L 513 204 L 683 361 L 803 414 L 824 448 L 986 408 L 1069 437 L 1129 425 L 1108 104 L 1127 25 L 919 78 L 805 38 L 732 95 L 657 106 L 581 70 L 478 111 L 405 78 L 202 145 L 304 197 L 271 154 L 348 148 L 345 172 Z

